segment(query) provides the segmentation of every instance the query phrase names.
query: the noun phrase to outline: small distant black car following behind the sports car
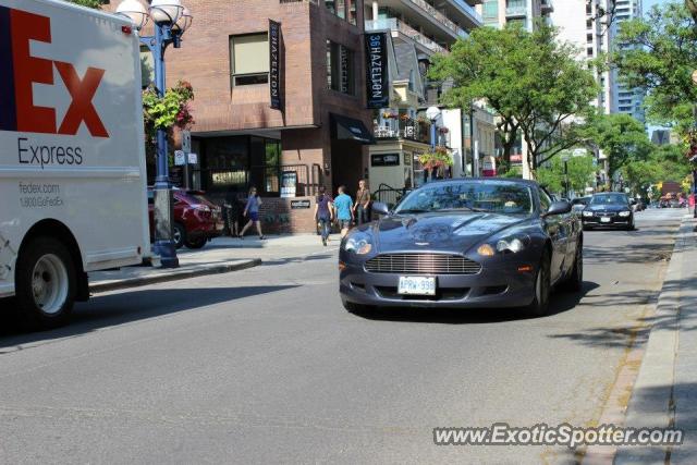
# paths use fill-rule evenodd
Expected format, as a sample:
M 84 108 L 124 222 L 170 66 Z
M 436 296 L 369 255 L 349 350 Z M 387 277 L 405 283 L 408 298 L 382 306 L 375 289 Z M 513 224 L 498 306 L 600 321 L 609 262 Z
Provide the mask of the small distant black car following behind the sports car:
M 634 230 L 634 212 L 626 194 L 608 192 L 595 194 L 580 213 L 584 230 L 592 228 L 623 228 Z

